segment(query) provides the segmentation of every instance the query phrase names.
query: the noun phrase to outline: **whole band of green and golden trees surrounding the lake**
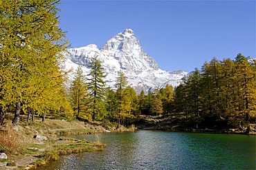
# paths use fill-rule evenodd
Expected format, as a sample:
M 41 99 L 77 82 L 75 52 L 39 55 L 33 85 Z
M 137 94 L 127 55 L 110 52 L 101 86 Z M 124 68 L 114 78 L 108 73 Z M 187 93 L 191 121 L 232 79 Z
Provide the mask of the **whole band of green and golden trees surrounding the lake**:
M 68 86 L 61 69 L 68 47 L 58 27 L 58 0 L 1 1 L 0 14 L 0 123 L 12 112 L 33 122 L 35 116 L 58 115 L 84 121 L 109 121 L 129 126 L 140 115 L 182 118 L 188 128 L 239 128 L 250 131 L 256 114 L 256 61 L 237 54 L 235 60 L 213 58 L 195 69 L 177 87 L 166 85 L 140 92 L 116 70 L 116 87 L 106 87 L 107 73 L 98 56 L 90 72 L 78 67 Z M 72 71 L 72 70 L 71 70 Z M 70 71 L 70 72 L 71 72 Z

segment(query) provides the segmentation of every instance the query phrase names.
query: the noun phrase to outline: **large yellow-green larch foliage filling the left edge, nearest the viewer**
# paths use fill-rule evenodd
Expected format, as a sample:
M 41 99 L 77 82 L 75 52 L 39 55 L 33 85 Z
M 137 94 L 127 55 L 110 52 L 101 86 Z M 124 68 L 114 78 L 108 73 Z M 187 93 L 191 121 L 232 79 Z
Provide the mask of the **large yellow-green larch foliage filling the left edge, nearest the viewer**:
M 53 109 L 48 99 L 55 100 L 55 95 L 64 92 L 59 65 L 67 42 L 58 28 L 59 2 L 1 1 L 0 98 L 3 106 L 16 105 L 14 125 L 22 108 L 43 114 Z

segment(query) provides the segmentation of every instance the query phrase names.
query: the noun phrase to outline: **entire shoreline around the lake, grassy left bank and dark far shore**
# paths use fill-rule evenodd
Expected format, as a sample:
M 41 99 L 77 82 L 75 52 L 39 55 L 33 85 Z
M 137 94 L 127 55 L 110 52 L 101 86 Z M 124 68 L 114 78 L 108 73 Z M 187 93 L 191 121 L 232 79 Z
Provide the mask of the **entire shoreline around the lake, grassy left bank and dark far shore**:
M 114 123 L 84 123 L 79 120 L 46 119 L 45 123 L 37 120 L 33 124 L 21 122 L 18 126 L 13 126 L 8 121 L 6 127 L 1 127 L 1 131 L 9 131 L 12 136 L 16 136 L 19 147 L 17 147 L 17 151 L 8 154 L 7 160 L 0 161 L 0 169 L 36 169 L 42 164 L 57 160 L 60 156 L 87 151 L 100 151 L 107 147 L 100 140 L 89 142 L 65 137 L 65 135 L 70 134 L 102 134 L 136 131 L 137 129 L 208 134 L 246 134 L 245 129 L 188 129 L 182 127 L 179 123 L 174 125 L 170 123 L 156 123 L 154 121 L 137 123 L 136 127 L 134 125 L 129 128 L 120 126 L 119 129 L 116 129 Z M 253 132 L 246 135 L 255 134 Z M 42 139 L 43 137 L 37 139 L 35 137 L 37 135 L 46 137 L 46 139 Z

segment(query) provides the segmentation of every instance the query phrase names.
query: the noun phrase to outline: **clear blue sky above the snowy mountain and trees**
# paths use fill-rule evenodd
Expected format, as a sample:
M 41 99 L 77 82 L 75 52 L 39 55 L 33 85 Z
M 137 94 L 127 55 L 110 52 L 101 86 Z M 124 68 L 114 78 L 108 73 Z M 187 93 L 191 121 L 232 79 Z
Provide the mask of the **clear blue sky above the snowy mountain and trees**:
M 71 47 L 102 47 L 131 28 L 163 70 L 190 72 L 213 56 L 255 57 L 255 1 L 62 0 L 58 7 Z

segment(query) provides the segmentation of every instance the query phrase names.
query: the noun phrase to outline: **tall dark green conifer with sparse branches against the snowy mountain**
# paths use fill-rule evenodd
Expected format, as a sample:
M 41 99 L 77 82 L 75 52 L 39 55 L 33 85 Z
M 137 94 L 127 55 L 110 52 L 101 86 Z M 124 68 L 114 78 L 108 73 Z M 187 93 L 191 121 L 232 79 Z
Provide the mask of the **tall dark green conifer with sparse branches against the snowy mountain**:
M 98 59 L 98 56 L 94 56 L 89 63 L 89 78 L 87 83 L 89 93 L 91 94 L 92 103 L 91 109 L 93 113 L 93 121 L 100 119 L 104 116 L 104 94 L 105 94 L 105 82 L 103 78 L 104 75 L 101 61 Z

